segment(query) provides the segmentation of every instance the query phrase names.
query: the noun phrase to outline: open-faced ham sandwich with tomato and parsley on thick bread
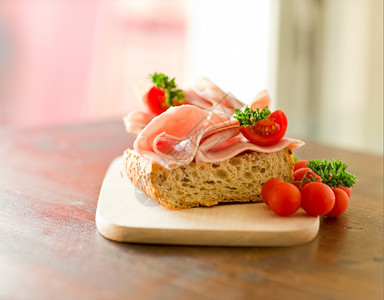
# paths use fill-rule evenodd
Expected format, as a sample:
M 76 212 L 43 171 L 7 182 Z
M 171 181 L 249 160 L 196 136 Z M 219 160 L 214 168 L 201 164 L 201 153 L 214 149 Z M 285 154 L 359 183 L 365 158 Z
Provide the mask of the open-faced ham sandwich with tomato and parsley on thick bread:
M 260 202 L 266 181 L 293 179 L 292 149 L 304 143 L 284 137 L 287 118 L 269 110 L 266 90 L 245 105 L 206 78 L 195 90 L 178 90 L 174 79 L 155 73 L 137 93 L 148 110 L 124 119 L 138 136 L 123 168 L 162 205 Z

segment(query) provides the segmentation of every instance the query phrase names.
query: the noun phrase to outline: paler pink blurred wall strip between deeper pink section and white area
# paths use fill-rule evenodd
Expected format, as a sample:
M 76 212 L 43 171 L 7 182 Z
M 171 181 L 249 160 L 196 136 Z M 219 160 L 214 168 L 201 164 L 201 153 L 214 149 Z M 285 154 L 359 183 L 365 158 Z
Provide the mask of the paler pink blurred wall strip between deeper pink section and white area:
M 153 72 L 184 83 L 186 10 L 183 0 L 102 1 L 85 110 L 120 118 L 142 108 L 134 86 Z

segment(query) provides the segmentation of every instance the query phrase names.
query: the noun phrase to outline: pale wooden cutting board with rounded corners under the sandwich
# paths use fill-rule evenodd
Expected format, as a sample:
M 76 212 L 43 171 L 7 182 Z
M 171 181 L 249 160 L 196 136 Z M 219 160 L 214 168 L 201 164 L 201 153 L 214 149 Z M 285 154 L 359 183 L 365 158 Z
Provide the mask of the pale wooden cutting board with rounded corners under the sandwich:
M 264 203 L 226 204 L 171 210 L 148 198 L 121 172 L 122 157 L 110 165 L 100 191 L 96 225 L 119 242 L 211 245 L 293 246 L 315 238 L 319 218 L 301 209 L 279 217 Z

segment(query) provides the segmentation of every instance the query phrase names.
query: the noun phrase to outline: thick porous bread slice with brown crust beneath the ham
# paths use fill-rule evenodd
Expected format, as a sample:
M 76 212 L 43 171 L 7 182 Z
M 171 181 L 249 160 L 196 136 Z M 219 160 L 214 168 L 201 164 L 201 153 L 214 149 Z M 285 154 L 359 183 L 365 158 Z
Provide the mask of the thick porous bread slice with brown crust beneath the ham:
M 270 178 L 293 180 L 293 152 L 246 152 L 219 163 L 190 163 L 168 170 L 138 155 L 124 153 L 129 180 L 148 197 L 172 208 L 213 206 L 221 202 L 261 202 L 261 188 Z

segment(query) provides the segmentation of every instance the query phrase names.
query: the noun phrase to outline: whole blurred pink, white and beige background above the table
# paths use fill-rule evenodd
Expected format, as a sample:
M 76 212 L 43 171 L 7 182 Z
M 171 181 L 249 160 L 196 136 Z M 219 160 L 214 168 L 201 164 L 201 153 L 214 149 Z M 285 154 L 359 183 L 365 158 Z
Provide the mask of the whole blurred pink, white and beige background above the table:
M 382 0 L 0 0 L 0 128 L 121 119 L 154 71 L 269 89 L 290 136 L 383 152 Z

